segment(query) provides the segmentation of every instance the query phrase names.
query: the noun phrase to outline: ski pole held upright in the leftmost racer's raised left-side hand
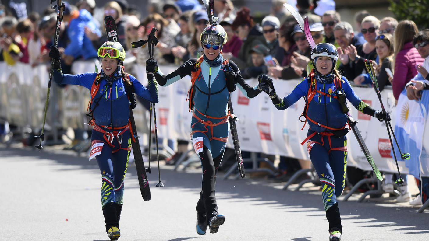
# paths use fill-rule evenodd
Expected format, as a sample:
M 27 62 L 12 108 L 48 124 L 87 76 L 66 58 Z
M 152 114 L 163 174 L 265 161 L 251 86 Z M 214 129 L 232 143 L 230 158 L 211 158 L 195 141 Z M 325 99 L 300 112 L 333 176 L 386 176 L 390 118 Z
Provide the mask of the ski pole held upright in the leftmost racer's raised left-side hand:
M 56 5 L 53 5 L 53 3 L 57 1 Z M 60 38 L 60 26 L 61 26 L 61 22 L 63 21 L 63 12 L 64 12 L 64 8 L 65 8 L 65 4 L 62 2 L 62 0 L 51 0 L 51 9 L 57 9 L 57 24 L 56 24 L 56 28 L 55 28 L 55 35 L 54 35 L 54 47 L 57 47 L 58 45 L 58 39 Z M 49 93 L 51 92 L 51 83 L 52 83 L 52 72 L 54 71 L 54 60 L 51 60 L 51 70 L 49 71 L 49 81 L 48 81 L 48 92 L 46 93 L 46 102 L 45 102 L 45 112 L 43 114 L 43 124 L 42 124 L 42 131 L 40 133 L 40 136 L 34 136 L 35 138 L 39 138 L 40 139 L 40 143 L 39 145 L 36 145 L 34 147 L 36 147 L 37 149 L 39 149 L 39 151 L 42 150 L 43 146 L 42 146 L 42 142 L 43 139 L 45 138 L 45 122 L 46 122 L 46 114 L 48 112 L 48 100 L 49 100 Z

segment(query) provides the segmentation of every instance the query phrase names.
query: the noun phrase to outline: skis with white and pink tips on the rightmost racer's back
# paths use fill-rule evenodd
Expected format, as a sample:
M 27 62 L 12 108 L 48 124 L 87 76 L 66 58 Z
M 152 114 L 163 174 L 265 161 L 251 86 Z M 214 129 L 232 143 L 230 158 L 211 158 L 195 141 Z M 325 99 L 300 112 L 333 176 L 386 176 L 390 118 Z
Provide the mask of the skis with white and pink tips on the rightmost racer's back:
M 294 9 L 289 4 L 285 3 L 283 6 L 293 15 L 293 17 L 296 19 L 296 21 L 299 24 L 299 27 L 301 28 L 302 32 L 305 34 L 305 39 L 307 39 L 308 44 L 310 45 L 311 49 L 314 49 L 316 47 L 316 43 L 314 43 L 313 37 L 311 36 L 310 27 L 308 24 L 308 16 L 305 16 L 305 19 L 302 19 L 301 15 L 299 14 L 296 9 Z M 379 94 L 379 92 L 378 92 Z M 381 102 L 381 97 L 380 102 Z M 384 111 L 384 109 L 383 109 Z M 359 129 L 357 128 L 356 124 L 357 121 L 353 119 L 353 117 L 350 115 L 350 112 L 347 112 L 347 116 L 349 119 L 350 129 L 353 131 L 354 136 L 356 137 L 357 142 L 360 145 L 360 148 L 362 149 L 363 153 L 365 154 L 366 160 L 368 160 L 368 163 L 371 165 L 372 170 L 375 173 L 375 176 L 378 178 L 378 180 L 383 181 L 383 177 L 381 176 L 380 171 L 377 168 L 377 165 L 375 165 L 374 159 L 371 156 L 371 153 L 369 153 L 368 148 L 366 147 L 365 142 L 363 141 L 362 135 L 360 134 Z M 396 163 L 397 165 L 397 163 Z M 398 167 L 399 172 L 399 167 Z M 399 179 L 398 179 L 399 180 Z M 403 180 L 402 180 L 403 182 Z M 397 181 L 397 183 L 400 183 Z

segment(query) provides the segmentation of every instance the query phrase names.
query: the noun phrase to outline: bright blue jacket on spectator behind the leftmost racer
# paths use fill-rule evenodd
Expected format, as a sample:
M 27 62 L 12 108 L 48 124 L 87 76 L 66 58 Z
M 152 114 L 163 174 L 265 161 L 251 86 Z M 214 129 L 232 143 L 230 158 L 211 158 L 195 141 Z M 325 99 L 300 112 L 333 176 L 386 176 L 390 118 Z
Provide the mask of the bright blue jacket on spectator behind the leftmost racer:
M 85 35 L 85 26 L 89 27 L 94 33 L 101 36 L 97 24 L 86 9 L 79 11 L 79 17 L 69 22 L 67 34 L 70 43 L 64 50 L 64 54 L 71 55 L 75 59 L 82 56 L 84 59 L 97 57 L 97 50 L 92 45 L 91 40 Z

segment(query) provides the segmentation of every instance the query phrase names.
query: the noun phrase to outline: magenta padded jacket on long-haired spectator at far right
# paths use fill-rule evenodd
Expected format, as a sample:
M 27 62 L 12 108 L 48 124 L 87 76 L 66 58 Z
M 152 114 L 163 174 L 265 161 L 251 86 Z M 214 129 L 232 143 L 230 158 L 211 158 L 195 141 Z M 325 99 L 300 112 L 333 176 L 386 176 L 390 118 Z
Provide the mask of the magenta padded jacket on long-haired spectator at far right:
M 395 72 L 393 73 L 392 84 L 395 99 L 399 98 L 405 84 L 417 74 L 417 64 L 423 64 L 423 58 L 417 52 L 417 49 L 413 47 L 412 42 L 405 43 L 395 59 Z

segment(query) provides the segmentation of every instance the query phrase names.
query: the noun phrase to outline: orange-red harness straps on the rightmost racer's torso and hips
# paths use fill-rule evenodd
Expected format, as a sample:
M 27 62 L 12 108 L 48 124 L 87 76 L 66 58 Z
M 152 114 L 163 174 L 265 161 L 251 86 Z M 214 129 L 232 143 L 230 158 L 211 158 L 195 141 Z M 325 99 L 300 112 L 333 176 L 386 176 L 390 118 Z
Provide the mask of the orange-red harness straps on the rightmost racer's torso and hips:
M 332 94 L 325 93 L 323 91 L 317 90 L 317 81 L 316 81 L 316 78 L 314 78 L 314 69 L 311 70 L 309 78 L 307 78 L 307 81 L 308 81 L 308 84 L 310 85 L 310 87 L 308 88 L 307 96 L 304 96 L 304 99 L 305 99 L 304 111 L 299 116 L 299 121 L 304 122 L 304 126 L 302 126 L 301 130 L 304 129 L 305 124 L 307 123 L 307 120 L 311 121 L 312 123 L 316 124 L 319 127 L 323 127 L 323 128 L 328 129 L 328 130 L 333 130 L 333 131 L 343 130 L 347 126 L 348 121 L 344 125 L 344 127 L 342 127 L 342 128 L 332 128 L 332 127 L 328 127 L 328 126 L 325 126 L 323 124 L 320 124 L 320 123 L 312 120 L 310 117 L 308 117 L 308 115 L 307 115 L 308 105 L 310 105 L 310 102 L 314 98 L 314 95 L 316 93 L 319 93 L 321 95 L 324 95 L 324 96 L 329 97 L 329 98 L 334 98 L 334 99 L 338 99 L 338 96 L 335 96 L 335 95 L 332 95 Z M 334 84 L 335 84 L 335 87 L 337 89 L 338 89 L 338 86 L 341 88 L 341 79 L 335 78 L 334 79 Z M 305 117 L 304 121 L 301 120 L 302 116 Z M 309 139 L 311 139 L 311 137 L 315 136 L 316 134 L 317 134 L 317 132 L 314 132 L 314 133 L 310 134 L 309 136 L 307 136 L 307 138 L 305 138 L 304 141 L 301 142 L 301 145 L 304 145 L 305 142 L 307 142 Z M 311 141 L 311 142 L 308 142 L 307 145 L 310 145 L 311 143 L 317 143 L 317 144 L 320 144 L 320 145 L 323 146 L 324 145 L 323 136 L 327 136 L 328 137 L 328 141 L 329 141 L 329 151 L 328 151 L 328 153 L 330 153 L 331 151 L 347 151 L 347 147 L 332 148 L 332 146 L 331 146 L 331 136 L 334 136 L 334 133 L 332 133 L 332 132 L 320 132 L 318 134 L 321 135 L 321 138 L 320 138 L 321 142 L 313 142 L 313 141 Z

